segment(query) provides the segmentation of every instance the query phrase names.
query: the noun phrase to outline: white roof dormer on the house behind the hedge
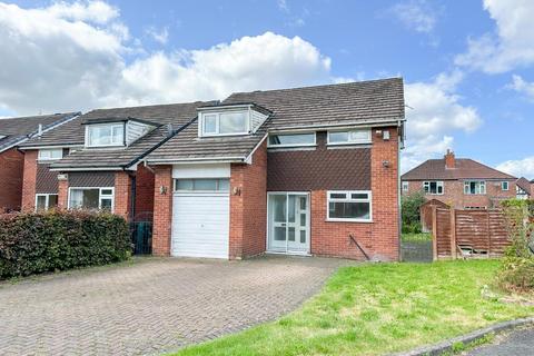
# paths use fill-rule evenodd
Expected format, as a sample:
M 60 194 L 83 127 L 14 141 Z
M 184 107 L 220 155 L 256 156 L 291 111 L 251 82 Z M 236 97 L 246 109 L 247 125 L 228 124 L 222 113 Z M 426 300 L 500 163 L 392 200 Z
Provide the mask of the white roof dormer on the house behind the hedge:
M 136 118 L 88 119 L 82 125 L 87 148 L 128 147 L 159 126 Z

